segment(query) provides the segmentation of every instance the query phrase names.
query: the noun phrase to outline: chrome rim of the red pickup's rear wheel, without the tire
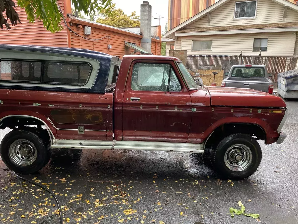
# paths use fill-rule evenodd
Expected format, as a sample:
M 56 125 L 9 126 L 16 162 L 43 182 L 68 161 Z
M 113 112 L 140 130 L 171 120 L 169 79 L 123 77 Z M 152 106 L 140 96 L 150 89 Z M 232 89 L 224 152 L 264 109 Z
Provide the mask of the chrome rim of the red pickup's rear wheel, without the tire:
M 9 158 L 16 165 L 31 165 L 37 157 L 37 150 L 32 142 L 26 139 L 15 140 L 9 147 Z

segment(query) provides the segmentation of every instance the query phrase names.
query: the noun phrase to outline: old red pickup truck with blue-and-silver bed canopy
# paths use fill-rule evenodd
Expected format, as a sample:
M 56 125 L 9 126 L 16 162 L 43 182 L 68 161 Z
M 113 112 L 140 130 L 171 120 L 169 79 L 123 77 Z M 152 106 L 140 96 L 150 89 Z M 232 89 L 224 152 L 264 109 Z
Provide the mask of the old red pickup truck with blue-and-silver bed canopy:
M 282 143 L 283 99 L 252 89 L 198 87 L 179 59 L 90 50 L 0 45 L 4 163 L 33 173 L 50 149 L 210 152 L 223 177 L 260 165 Z M 210 149 L 206 150 L 206 149 Z

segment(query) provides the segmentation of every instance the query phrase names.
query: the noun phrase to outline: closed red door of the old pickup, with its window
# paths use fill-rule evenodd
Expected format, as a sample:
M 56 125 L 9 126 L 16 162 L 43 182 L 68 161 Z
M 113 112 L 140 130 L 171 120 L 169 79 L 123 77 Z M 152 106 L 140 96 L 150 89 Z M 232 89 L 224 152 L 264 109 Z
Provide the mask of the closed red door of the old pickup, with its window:
M 190 94 L 173 61 L 136 60 L 126 81 L 122 139 L 186 142 L 191 108 Z

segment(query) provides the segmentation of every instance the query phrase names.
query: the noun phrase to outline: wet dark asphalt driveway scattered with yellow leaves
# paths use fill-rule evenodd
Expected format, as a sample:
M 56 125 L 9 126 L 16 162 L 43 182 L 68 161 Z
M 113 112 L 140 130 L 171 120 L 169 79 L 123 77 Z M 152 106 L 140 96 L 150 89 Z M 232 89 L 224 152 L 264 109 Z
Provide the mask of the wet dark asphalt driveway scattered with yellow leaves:
M 298 223 L 298 102 L 287 105 L 288 137 L 260 142 L 261 165 L 243 181 L 219 179 L 201 155 L 122 150 L 55 151 L 26 177 L 55 191 L 65 223 Z M 239 200 L 259 219 L 231 218 Z M 56 209 L 49 193 L 0 161 L 0 223 L 59 223 Z

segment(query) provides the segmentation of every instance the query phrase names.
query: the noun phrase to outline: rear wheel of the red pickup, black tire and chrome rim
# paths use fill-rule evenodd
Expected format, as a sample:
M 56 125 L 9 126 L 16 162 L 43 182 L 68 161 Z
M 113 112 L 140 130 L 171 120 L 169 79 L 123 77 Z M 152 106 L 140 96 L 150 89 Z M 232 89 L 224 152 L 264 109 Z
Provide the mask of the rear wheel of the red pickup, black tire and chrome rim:
M 14 130 L 4 136 L 0 154 L 8 168 L 21 174 L 39 171 L 50 158 L 48 145 L 36 134 L 22 130 Z

